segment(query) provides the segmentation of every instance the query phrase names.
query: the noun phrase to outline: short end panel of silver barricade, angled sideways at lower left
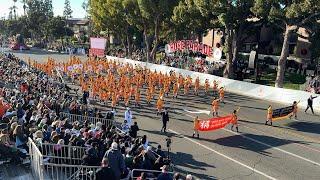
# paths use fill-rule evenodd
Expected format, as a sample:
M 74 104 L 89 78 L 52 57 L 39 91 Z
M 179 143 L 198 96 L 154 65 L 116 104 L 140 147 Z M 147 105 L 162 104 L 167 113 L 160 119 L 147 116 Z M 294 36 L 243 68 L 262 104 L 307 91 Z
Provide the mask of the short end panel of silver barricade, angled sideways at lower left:
M 31 138 L 28 139 L 31 173 L 35 179 L 44 179 L 43 177 L 43 156 L 37 145 Z

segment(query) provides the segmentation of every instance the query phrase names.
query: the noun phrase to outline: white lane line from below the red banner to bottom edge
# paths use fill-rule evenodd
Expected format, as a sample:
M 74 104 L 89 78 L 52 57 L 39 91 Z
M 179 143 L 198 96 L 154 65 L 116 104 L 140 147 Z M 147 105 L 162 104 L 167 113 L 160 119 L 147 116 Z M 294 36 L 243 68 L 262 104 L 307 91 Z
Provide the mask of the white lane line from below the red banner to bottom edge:
M 206 145 L 203 145 L 203 144 L 201 144 L 201 143 L 199 143 L 199 142 L 197 142 L 197 141 L 195 141 L 195 140 L 193 140 L 193 139 L 191 139 L 191 138 L 188 138 L 188 137 L 182 135 L 181 133 L 178 133 L 178 132 L 176 132 L 176 131 L 174 131 L 174 130 L 172 130 L 172 129 L 169 129 L 169 131 L 171 131 L 172 133 L 175 133 L 175 134 L 177 134 L 177 135 L 180 135 L 180 136 L 182 136 L 183 138 L 185 138 L 186 140 L 191 141 L 191 142 L 193 142 L 193 143 L 195 143 L 195 144 L 197 144 L 197 145 L 199 145 L 199 146 L 201 146 L 201 147 L 203 147 L 203 148 L 205 148 L 205 149 L 207 149 L 207 150 L 209 150 L 209 151 L 211 151 L 211 152 L 214 152 L 214 153 L 216 153 L 216 154 L 218 154 L 218 155 L 220 155 L 220 156 L 222 156 L 222 157 L 224 157 L 224 158 L 226 158 L 226 159 L 228 159 L 228 160 L 230 160 L 230 161 L 233 161 L 233 162 L 235 162 L 235 163 L 237 163 L 237 164 L 239 164 L 239 165 L 241 165 L 241 166 L 243 166 L 243 167 L 245 167 L 245 168 L 247 168 L 247 169 L 250 169 L 251 171 L 253 171 L 253 172 L 255 172 L 255 173 L 258 173 L 258 174 L 260 174 L 260 175 L 262 175 L 262 176 L 264 176 L 264 177 L 266 177 L 266 178 L 268 178 L 268 179 L 276 180 L 276 178 L 274 178 L 274 177 L 272 177 L 272 176 L 269 176 L 269 175 L 267 175 L 266 173 L 263 173 L 263 172 L 255 169 L 255 168 L 253 168 L 253 167 L 250 167 L 250 166 L 248 166 L 248 165 L 246 165 L 246 164 L 243 164 L 242 162 L 237 161 L 237 160 L 235 160 L 235 159 L 233 159 L 233 158 L 231 158 L 231 157 L 229 157 L 229 156 L 227 156 L 227 155 L 225 155 L 225 154 L 222 154 L 222 153 L 220 153 L 220 152 L 218 152 L 218 151 L 216 151 L 216 150 L 214 150 L 214 149 L 212 149 L 212 148 L 210 148 L 210 147 L 208 147 L 208 146 L 206 146 Z

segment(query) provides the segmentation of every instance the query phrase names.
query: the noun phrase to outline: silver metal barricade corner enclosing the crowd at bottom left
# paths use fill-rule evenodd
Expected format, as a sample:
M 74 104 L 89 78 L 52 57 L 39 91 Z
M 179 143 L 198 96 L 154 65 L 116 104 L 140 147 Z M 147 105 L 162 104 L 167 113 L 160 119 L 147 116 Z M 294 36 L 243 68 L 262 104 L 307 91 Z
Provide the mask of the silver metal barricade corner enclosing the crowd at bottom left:
M 99 166 L 80 165 L 85 147 L 42 143 L 28 140 L 31 172 L 34 179 L 93 180 Z

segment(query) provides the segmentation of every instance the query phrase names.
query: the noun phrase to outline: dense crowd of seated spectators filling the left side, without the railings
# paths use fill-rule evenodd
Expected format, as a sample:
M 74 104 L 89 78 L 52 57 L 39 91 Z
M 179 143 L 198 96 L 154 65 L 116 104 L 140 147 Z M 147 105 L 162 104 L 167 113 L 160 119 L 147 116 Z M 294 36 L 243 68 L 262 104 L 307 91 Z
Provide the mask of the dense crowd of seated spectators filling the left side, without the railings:
M 135 122 L 126 131 L 100 122 L 70 122 L 60 112 L 101 116 L 96 108 L 83 104 L 65 84 L 28 67 L 9 54 L 0 60 L 0 155 L 21 163 L 28 156 L 28 137 L 41 146 L 55 144 L 86 147 L 81 165 L 100 166 L 96 179 L 122 179 L 132 169 L 161 170 L 162 173 L 134 172 L 134 177 L 172 179 L 168 176 L 169 159 L 159 145 L 149 146 L 147 136 L 137 136 Z M 124 122 L 124 124 L 127 124 Z M 179 179 L 180 175 L 175 175 Z

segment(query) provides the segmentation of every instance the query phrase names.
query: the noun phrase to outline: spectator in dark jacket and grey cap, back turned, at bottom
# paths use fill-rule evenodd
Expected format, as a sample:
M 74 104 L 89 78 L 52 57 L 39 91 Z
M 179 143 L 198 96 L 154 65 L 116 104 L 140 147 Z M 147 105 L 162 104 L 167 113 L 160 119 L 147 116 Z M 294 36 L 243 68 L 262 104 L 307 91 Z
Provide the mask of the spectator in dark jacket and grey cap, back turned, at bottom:
M 115 173 L 116 180 L 119 180 L 125 170 L 125 163 L 122 154 L 118 150 L 118 143 L 113 142 L 110 149 L 105 153 L 104 158 L 108 159 L 110 167 Z

